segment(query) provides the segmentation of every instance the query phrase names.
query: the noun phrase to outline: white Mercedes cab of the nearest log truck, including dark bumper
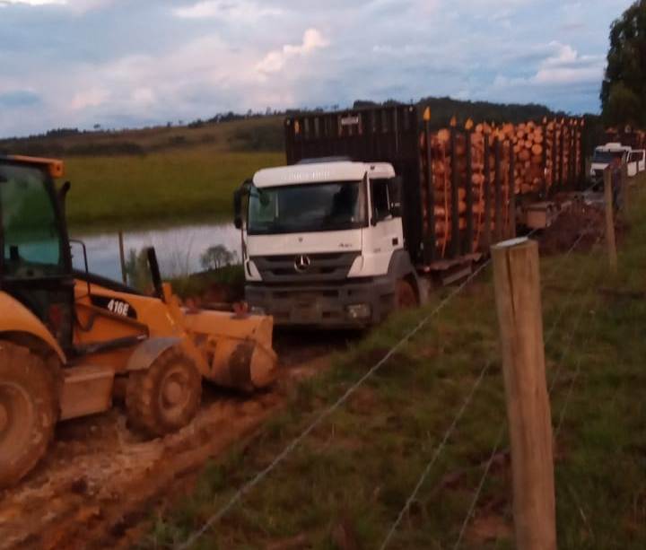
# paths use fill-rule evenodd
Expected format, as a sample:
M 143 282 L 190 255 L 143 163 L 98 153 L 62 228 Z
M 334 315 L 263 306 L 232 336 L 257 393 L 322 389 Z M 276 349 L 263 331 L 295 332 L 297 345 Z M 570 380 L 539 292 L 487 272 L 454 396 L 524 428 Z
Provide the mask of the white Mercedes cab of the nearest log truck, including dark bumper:
M 399 185 L 388 162 L 319 159 L 256 172 L 237 223 L 249 305 L 277 325 L 362 327 L 416 301 Z

